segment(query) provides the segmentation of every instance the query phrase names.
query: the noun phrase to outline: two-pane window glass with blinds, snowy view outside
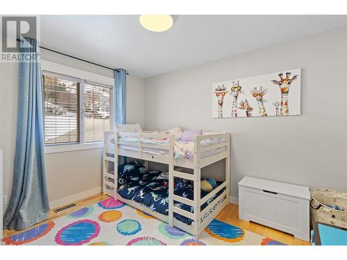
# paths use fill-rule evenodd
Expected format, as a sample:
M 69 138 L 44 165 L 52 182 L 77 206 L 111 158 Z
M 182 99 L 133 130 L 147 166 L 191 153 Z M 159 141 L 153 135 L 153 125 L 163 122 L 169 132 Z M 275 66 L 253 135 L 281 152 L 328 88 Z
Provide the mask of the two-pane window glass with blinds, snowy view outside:
M 45 144 L 103 141 L 111 129 L 112 86 L 43 71 Z

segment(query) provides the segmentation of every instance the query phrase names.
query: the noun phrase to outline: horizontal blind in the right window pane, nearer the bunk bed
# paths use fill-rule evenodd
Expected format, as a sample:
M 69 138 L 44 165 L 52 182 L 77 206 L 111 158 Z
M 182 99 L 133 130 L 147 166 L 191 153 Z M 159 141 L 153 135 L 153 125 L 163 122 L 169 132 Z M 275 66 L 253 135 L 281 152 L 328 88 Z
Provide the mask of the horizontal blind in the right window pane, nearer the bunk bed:
M 84 85 L 84 141 L 102 141 L 103 132 L 110 131 L 112 87 L 85 82 Z

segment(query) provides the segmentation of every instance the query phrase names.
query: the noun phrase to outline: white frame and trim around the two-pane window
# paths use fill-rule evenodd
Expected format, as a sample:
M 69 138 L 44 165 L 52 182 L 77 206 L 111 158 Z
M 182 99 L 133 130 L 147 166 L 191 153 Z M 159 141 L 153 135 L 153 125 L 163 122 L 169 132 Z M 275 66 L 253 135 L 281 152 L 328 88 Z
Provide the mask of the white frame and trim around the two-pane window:
M 41 69 L 42 73 L 46 72 L 51 76 L 59 76 L 62 75 L 65 78 L 71 78 L 71 80 L 78 80 L 78 83 L 80 83 L 80 121 L 83 121 L 83 112 L 84 112 L 84 83 L 90 82 L 90 83 L 99 83 L 101 85 L 108 85 L 112 86 L 112 89 L 115 88 L 115 79 L 109 78 L 106 76 L 102 76 L 97 73 L 92 73 L 90 71 L 84 71 L 81 69 L 76 69 L 74 67 L 68 67 L 62 64 L 58 64 L 55 62 L 49 62 L 47 60 L 41 60 Z M 83 90 L 83 91 L 82 91 Z M 112 112 L 113 107 L 115 107 L 115 96 L 114 91 L 112 91 L 111 96 L 111 125 L 113 125 L 113 114 Z M 95 141 L 95 142 L 88 142 L 85 143 L 84 141 L 84 129 L 83 129 L 83 123 L 80 123 L 80 141 L 78 144 L 45 144 L 44 145 L 44 153 L 65 153 L 69 151 L 74 150 L 89 150 L 89 149 L 97 149 L 97 148 L 103 148 L 103 141 Z

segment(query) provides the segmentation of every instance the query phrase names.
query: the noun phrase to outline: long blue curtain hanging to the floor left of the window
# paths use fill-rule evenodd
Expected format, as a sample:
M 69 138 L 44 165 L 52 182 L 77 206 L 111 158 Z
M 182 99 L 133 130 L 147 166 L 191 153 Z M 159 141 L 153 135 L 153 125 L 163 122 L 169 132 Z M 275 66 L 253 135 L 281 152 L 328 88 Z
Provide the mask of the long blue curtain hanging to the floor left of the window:
M 37 53 L 36 40 L 26 39 L 19 52 Z M 28 53 L 28 52 L 26 52 Z M 22 230 L 46 219 L 49 200 L 44 164 L 44 94 L 40 59 L 19 62 L 17 141 L 12 193 L 3 227 Z

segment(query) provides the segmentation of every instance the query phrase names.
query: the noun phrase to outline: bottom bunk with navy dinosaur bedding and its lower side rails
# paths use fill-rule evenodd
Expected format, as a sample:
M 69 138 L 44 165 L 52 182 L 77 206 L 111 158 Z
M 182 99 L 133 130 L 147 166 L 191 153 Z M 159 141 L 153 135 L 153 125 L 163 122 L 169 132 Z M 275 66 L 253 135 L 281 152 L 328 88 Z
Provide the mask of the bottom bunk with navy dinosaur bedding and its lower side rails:
M 217 182 L 217 187 L 222 182 Z M 148 214 L 168 222 L 169 214 L 169 181 L 168 174 L 161 171 L 148 171 L 144 164 L 135 161 L 130 164 L 121 164 L 118 167 L 118 199 L 126 202 L 128 205 L 142 209 Z M 201 205 L 201 212 L 204 211 L 210 203 L 214 206 L 205 212 L 200 218 L 200 223 L 205 222 L 207 218 L 213 218 L 219 214 L 221 209 L 227 205 L 226 188 L 218 191 L 212 198 Z M 201 190 L 201 198 L 209 192 Z M 194 200 L 194 190 L 191 181 L 175 179 L 174 194 L 188 200 Z M 222 196 L 223 194 L 223 196 Z M 216 200 L 217 199 L 217 200 Z M 174 206 L 184 211 L 193 213 L 193 207 L 185 205 L 182 202 L 174 201 Z M 222 207 L 220 207 L 222 206 Z M 216 212 L 214 212 L 218 209 Z M 212 219 L 211 219 L 212 220 Z M 192 233 L 194 221 L 174 212 L 174 225 L 186 232 Z

